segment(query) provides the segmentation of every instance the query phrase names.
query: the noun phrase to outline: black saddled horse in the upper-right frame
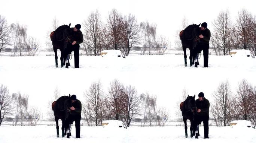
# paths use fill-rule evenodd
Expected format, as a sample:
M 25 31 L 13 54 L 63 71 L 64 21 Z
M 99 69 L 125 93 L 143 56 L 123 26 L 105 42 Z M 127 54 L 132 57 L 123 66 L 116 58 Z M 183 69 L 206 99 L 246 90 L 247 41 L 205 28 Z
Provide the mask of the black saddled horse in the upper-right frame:
M 201 29 L 199 28 L 199 25 L 192 24 L 186 27 L 183 31 L 180 31 L 180 39 L 182 41 L 182 49 L 184 51 L 184 61 L 185 66 L 187 66 L 187 55 L 186 55 L 186 48 L 189 48 L 190 55 L 190 66 L 194 64 L 194 60 L 196 58 L 196 52 L 194 48 L 196 47 L 197 42 L 199 42 L 199 34 L 201 32 Z M 192 61 L 193 60 L 193 61 Z M 197 67 L 198 63 L 195 64 L 195 67 Z

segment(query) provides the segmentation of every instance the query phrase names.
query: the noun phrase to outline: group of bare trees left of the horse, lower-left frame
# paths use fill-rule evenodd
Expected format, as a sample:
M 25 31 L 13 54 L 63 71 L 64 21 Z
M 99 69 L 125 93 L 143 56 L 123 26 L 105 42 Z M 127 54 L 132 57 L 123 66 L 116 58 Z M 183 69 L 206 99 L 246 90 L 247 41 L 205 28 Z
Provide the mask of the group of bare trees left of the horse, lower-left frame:
M 28 96 L 21 93 L 9 94 L 7 87 L 0 86 L 0 126 L 4 121 L 13 125 L 36 125 L 40 110 L 28 105 Z

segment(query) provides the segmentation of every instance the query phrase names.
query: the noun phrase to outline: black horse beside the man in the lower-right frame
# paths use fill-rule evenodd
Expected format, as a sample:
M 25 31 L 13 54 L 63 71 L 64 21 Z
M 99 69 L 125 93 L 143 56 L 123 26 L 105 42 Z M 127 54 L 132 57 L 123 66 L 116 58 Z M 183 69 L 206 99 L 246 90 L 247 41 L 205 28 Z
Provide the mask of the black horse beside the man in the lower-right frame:
M 185 124 L 185 136 L 188 137 L 187 120 L 190 121 L 190 137 L 195 136 L 194 115 L 196 114 L 195 95 L 188 96 L 187 99 L 180 103 L 180 110 Z

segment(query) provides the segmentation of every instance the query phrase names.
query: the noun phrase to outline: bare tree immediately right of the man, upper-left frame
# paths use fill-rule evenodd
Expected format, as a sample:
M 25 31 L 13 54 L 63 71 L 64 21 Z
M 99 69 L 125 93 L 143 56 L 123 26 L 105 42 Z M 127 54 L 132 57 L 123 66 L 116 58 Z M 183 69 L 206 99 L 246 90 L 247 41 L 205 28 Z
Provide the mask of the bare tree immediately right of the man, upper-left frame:
M 85 42 L 84 47 L 86 47 L 87 53 L 93 53 L 95 56 L 100 54 L 102 50 L 101 41 L 103 40 L 103 25 L 100 18 L 100 12 L 96 10 L 91 12 L 83 22 L 85 27 Z

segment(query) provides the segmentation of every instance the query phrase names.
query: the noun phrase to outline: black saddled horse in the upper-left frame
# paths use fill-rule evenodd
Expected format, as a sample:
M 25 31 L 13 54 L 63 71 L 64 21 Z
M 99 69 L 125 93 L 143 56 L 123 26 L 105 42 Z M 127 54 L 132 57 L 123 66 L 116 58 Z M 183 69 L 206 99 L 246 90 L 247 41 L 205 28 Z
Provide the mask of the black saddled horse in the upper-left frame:
M 61 67 L 65 66 L 65 60 L 63 57 L 66 57 L 64 52 L 64 49 L 67 48 L 67 44 L 69 44 L 72 40 L 72 29 L 69 25 L 61 25 L 58 27 L 55 31 L 51 32 L 51 40 L 53 45 L 53 50 L 55 54 L 55 66 L 58 67 L 58 56 L 57 56 L 57 50 L 60 49 L 61 51 Z M 69 60 L 68 60 L 69 63 Z

